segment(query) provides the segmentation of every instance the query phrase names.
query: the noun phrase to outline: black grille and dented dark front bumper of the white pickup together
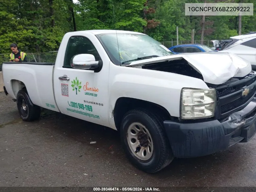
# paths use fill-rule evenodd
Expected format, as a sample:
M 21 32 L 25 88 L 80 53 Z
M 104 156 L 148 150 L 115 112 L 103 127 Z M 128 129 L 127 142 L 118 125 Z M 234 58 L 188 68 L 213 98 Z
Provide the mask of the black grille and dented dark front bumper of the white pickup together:
M 220 85 L 207 85 L 216 90 L 213 117 L 164 121 L 175 157 L 209 155 L 236 143 L 248 142 L 255 135 L 256 72 L 233 77 Z

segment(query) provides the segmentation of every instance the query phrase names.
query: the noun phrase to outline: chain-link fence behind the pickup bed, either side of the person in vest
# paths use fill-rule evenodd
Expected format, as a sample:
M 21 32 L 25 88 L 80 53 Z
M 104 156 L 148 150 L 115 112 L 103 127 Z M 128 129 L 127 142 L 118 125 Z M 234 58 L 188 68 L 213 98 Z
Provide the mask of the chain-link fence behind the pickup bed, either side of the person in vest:
M 28 62 L 50 62 L 55 63 L 58 51 L 44 53 L 27 53 Z M 0 54 L 0 71 L 2 71 L 2 63 L 8 62 L 9 54 Z

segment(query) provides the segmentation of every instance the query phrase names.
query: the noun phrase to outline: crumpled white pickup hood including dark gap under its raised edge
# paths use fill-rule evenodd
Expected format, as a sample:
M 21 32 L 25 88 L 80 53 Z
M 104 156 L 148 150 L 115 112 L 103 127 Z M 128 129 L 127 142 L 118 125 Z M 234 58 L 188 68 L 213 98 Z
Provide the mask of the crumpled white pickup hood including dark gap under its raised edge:
M 184 65 L 184 60 L 194 70 Z M 170 62 L 172 61 L 172 62 Z M 167 66 L 168 63 L 176 65 Z M 182 67 L 177 70 L 179 64 Z M 141 66 L 141 67 L 140 67 Z M 174 72 L 202 79 L 206 83 L 221 84 L 232 77 L 243 77 L 251 72 L 250 62 L 231 53 L 183 53 L 131 62 L 128 67 Z M 185 68 L 184 68 L 185 67 Z M 202 77 L 202 78 L 201 78 Z

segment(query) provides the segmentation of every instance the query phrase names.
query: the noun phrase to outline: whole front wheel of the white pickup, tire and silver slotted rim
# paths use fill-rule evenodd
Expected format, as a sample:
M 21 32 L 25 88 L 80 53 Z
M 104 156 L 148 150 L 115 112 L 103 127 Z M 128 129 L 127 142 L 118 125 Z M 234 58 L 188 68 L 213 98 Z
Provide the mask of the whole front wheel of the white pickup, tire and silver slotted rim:
M 120 136 L 128 159 L 145 172 L 157 172 L 174 158 L 163 123 L 150 111 L 133 109 L 126 113 Z

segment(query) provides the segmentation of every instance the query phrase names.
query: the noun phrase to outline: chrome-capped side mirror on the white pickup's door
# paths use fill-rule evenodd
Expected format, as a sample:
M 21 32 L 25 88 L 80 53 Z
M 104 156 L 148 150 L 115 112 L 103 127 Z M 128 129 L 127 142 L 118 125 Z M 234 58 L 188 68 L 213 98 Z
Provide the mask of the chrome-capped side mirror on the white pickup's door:
M 95 61 L 91 54 L 78 54 L 71 58 L 71 67 L 74 69 L 95 70 L 101 66 L 101 61 Z

